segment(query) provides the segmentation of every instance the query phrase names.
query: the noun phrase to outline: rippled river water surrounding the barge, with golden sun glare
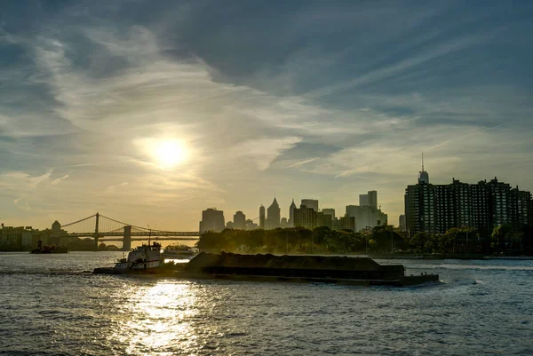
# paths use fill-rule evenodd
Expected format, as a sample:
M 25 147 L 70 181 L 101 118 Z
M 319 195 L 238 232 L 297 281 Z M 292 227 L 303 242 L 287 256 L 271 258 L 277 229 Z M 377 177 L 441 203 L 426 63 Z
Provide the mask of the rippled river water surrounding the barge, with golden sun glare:
M 117 257 L 0 254 L 0 354 L 533 355 L 533 261 L 390 261 L 441 275 L 403 289 L 84 273 Z

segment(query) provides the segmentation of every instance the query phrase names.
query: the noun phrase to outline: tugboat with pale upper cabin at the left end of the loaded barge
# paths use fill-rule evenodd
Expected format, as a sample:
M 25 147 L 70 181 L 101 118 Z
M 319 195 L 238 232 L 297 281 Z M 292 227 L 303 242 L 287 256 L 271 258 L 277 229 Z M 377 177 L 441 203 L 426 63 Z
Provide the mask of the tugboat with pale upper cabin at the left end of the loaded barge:
M 132 249 L 127 258 L 120 258 L 114 267 L 96 268 L 93 273 L 156 273 L 163 264 L 161 244 L 153 242 Z

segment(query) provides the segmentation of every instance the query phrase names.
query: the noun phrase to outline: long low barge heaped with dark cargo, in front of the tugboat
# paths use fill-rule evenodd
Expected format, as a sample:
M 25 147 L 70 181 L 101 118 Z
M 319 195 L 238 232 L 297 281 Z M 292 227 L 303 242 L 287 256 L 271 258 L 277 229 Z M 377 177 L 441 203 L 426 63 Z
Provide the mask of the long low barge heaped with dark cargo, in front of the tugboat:
M 379 265 L 369 257 L 201 253 L 177 275 L 244 281 L 316 281 L 407 286 L 439 281 L 438 274 L 406 276 L 403 265 Z

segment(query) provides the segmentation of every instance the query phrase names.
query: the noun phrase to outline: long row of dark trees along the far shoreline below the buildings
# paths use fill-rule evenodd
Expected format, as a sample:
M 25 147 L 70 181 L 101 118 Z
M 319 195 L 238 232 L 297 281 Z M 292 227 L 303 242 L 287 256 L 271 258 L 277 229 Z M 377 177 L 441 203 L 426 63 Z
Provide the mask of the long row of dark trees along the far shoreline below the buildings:
M 409 236 L 390 225 L 369 231 L 332 230 L 327 226 L 274 230 L 236 230 L 204 233 L 196 247 L 212 251 L 245 253 L 358 253 L 533 256 L 533 226 L 513 230 L 502 225 L 488 233 L 471 227 L 449 229 L 446 233 L 416 233 Z

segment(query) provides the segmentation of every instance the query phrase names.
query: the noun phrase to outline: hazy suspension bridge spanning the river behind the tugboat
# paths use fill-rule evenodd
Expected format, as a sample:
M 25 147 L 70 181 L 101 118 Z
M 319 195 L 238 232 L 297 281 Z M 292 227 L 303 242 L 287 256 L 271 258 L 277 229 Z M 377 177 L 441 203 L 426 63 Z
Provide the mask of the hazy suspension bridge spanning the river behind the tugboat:
M 149 227 L 126 224 L 99 213 L 58 227 L 62 236 L 94 239 L 95 250 L 98 249 L 100 242 L 107 241 L 123 241 L 123 250 L 130 250 L 131 241 L 144 241 L 147 240 L 147 237 L 165 241 L 197 241 L 200 237 L 200 233 L 197 231 L 155 230 Z

